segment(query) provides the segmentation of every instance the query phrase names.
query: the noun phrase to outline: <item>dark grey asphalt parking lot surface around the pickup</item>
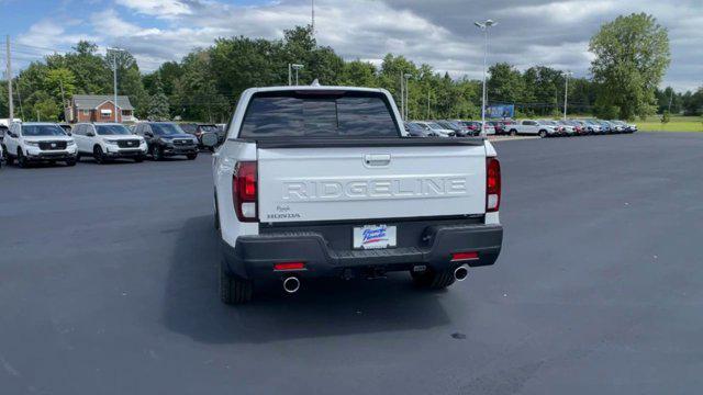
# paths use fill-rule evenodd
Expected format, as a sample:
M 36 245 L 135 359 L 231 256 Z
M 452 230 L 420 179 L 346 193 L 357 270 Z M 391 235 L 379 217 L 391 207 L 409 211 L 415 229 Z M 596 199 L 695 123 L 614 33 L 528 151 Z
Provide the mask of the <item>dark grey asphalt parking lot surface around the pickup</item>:
M 2 394 L 662 394 L 703 385 L 703 134 L 498 143 L 504 249 L 217 298 L 209 155 L 0 169 Z

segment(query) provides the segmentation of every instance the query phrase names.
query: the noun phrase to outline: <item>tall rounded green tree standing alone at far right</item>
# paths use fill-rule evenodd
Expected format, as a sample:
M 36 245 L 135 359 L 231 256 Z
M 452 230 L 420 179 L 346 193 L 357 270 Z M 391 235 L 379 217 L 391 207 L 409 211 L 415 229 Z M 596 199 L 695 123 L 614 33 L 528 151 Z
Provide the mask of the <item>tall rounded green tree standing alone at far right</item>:
M 621 15 L 601 26 L 589 49 L 595 55 L 591 72 L 602 101 L 625 120 L 655 112 L 655 90 L 671 61 L 666 27 L 645 13 Z

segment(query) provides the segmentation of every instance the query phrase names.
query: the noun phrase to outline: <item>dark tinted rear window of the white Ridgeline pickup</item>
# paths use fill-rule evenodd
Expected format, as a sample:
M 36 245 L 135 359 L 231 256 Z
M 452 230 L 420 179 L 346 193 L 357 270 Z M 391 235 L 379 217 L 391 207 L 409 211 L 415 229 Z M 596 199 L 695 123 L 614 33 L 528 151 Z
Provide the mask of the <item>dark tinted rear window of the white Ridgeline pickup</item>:
M 266 92 L 252 98 L 239 137 L 399 137 L 386 95 Z

